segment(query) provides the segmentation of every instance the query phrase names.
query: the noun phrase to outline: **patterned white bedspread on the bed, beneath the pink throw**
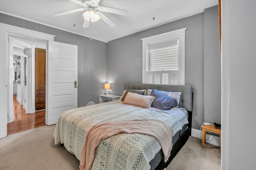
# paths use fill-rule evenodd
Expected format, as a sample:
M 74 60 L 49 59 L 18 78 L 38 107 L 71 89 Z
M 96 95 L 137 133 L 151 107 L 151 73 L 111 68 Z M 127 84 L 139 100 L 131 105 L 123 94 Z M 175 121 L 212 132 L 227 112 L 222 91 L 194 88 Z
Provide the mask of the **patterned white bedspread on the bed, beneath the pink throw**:
M 144 109 L 116 100 L 63 112 L 54 131 L 55 144 L 64 143 L 80 160 L 84 138 L 94 125 L 122 120 L 162 121 L 172 127 L 174 134 L 188 123 L 185 109 Z M 154 137 L 120 133 L 102 140 L 95 150 L 92 170 L 149 170 L 149 162 L 159 150 L 160 143 Z

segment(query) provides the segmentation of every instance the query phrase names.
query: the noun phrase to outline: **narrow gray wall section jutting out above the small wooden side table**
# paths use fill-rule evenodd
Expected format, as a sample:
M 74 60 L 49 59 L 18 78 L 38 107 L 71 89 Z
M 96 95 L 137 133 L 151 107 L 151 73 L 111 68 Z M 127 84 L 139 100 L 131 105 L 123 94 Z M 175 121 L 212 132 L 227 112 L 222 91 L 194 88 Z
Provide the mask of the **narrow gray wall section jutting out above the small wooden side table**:
M 204 10 L 204 122 L 221 120 L 221 56 L 218 6 Z

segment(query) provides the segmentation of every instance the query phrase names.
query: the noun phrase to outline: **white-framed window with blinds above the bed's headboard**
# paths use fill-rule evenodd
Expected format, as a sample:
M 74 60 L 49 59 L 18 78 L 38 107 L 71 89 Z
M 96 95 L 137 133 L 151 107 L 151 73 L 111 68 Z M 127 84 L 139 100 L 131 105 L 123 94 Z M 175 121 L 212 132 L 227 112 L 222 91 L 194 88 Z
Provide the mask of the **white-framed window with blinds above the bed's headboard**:
M 142 82 L 185 84 L 186 28 L 142 39 Z

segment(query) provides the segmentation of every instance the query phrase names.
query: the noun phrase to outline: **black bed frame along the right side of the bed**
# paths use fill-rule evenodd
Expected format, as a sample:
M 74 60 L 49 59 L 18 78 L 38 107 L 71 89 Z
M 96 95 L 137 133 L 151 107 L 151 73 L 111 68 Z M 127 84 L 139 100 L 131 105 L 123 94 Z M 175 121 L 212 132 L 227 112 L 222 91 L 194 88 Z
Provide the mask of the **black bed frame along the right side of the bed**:
M 192 93 L 192 101 L 193 101 L 193 93 Z M 163 170 L 170 164 L 170 162 L 173 160 L 176 154 L 178 154 L 180 149 L 182 149 L 182 147 L 188 141 L 189 136 L 191 136 L 191 130 L 192 130 L 192 111 L 188 111 L 188 128 L 182 133 L 182 135 L 179 137 L 176 143 L 172 146 L 171 154 L 168 161 L 164 162 L 164 159 L 162 159 L 161 162 L 158 164 L 158 166 L 156 166 L 155 170 Z

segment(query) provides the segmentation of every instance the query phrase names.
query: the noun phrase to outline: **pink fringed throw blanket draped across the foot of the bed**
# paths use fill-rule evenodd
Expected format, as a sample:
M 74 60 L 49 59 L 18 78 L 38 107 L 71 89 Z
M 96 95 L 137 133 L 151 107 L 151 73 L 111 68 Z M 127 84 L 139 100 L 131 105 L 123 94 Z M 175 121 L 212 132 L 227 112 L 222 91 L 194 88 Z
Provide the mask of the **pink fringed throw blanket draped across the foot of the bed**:
M 166 162 L 172 150 L 172 127 L 160 121 L 111 121 L 96 125 L 88 131 L 80 157 L 80 170 L 90 170 L 95 149 L 103 139 L 119 133 L 140 133 L 150 135 L 158 140 Z

